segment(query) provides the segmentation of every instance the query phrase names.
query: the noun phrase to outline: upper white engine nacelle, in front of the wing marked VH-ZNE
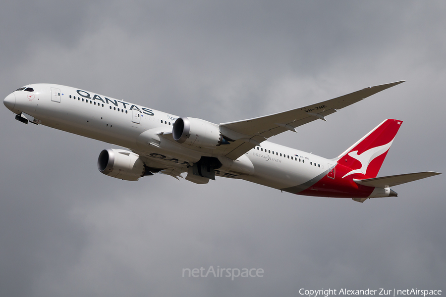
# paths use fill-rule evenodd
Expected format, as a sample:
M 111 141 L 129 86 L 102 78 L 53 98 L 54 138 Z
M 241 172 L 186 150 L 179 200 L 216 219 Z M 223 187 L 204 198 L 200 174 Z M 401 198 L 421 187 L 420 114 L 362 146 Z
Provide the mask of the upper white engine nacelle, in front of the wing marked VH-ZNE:
M 197 148 L 217 148 L 229 144 L 220 134 L 218 125 L 190 117 L 180 117 L 173 124 L 175 141 Z

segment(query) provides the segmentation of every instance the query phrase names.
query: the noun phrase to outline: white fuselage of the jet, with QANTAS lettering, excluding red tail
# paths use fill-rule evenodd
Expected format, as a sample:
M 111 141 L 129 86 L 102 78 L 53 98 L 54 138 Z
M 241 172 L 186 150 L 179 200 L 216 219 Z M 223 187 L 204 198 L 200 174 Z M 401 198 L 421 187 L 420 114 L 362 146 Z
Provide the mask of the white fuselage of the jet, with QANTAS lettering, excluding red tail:
M 52 128 L 129 148 L 146 156 L 151 167 L 168 166 L 187 172 L 187 167 L 203 155 L 203 151 L 164 137 L 152 145 L 145 143 L 144 132 L 151 137 L 153 134 L 149 131 L 168 133 L 178 116 L 66 86 L 27 87 L 34 92 L 12 93 L 15 113 L 30 115 Z M 224 160 L 225 157 L 215 155 L 212 149 L 206 154 L 222 160 L 217 176 L 240 178 L 276 189 L 304 184 L 326 174 L 330 167 L 329 159 L 267 141 L 235 161 Z

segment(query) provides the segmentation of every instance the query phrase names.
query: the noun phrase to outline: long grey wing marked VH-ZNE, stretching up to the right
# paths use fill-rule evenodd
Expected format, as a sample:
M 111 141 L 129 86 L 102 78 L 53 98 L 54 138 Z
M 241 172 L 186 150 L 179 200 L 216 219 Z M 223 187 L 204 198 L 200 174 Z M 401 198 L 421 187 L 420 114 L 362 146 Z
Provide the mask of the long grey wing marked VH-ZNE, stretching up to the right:
M 230 141 L 229 145 L 221 146 L 223 155 L 235 160 L 251 148 L 260 145 L 268 138 L 282 132 L 295 131 L 296 127 L 317 119 L 325 120 L 329 114 L 345 106 L 356 103 L 404 81 L 368 87 L 335 99 L 330 99 L 313 105 L 283 111 L 267 116 L 247 119 L 237 122 L 220 124 L 223 137 Z

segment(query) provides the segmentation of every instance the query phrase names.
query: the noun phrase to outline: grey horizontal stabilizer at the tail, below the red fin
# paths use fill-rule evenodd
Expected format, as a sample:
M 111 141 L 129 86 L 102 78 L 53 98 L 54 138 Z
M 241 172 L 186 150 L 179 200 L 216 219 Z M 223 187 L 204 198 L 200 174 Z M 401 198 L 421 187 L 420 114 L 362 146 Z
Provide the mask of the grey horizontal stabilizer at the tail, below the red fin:
M 392 176 L 383 176 L 376 178 L 368 178 L 363 180 L 353 179 L 353 181 L 359 185 L 376 187 L 376 188 L 388 188 L 393 187 L 409 182 L 413 182 L 419 179 L 423 179 L 426 177 L 434 176 L 437 174 L 441 174 L 439 172 L 426 171 L 426 172 L 417 172 L 417 173 L 407 173 L 407 174 L 399 174 Z

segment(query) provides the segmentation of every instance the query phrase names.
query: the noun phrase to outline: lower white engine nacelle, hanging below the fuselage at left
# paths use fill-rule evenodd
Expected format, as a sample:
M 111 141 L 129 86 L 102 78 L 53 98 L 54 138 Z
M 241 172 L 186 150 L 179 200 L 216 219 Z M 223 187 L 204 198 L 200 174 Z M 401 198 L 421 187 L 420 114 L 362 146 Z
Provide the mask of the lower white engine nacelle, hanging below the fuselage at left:
M 124 149 L 104 149 L 99 154 L 98 169 L 105 175 L 137 181 L 146 172 L 144 162 L 139 155 Z

